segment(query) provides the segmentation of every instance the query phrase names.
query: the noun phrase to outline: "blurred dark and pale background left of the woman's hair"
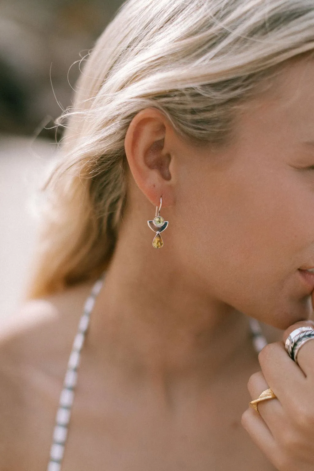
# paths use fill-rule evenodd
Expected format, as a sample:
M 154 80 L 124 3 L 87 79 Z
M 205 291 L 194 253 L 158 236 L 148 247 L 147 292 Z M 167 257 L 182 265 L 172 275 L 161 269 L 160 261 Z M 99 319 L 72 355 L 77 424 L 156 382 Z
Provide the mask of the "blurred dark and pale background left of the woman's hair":
M 0 0 L 0 317 L 14 315 L 36 244 L 32 195 L 56 157 L 54 120 L 120 0 Z

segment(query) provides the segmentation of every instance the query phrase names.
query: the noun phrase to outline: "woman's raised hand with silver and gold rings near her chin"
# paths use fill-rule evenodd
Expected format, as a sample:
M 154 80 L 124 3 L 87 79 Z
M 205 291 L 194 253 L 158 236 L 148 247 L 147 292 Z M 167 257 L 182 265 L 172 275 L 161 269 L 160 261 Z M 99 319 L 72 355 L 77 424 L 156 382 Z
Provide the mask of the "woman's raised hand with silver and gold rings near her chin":
M 284 348 L 288 335 L 312 321 L 293 324 L 283 342 L 266 345 L 258 355 L 262 371 L 252 374 L 248 389 L 252 399 L 271 388 L 277 399 L 249 407 L 242 425 L 251 439 L 279 471 L 314 471 L 314 340 L 298 352 L 298 365 Z

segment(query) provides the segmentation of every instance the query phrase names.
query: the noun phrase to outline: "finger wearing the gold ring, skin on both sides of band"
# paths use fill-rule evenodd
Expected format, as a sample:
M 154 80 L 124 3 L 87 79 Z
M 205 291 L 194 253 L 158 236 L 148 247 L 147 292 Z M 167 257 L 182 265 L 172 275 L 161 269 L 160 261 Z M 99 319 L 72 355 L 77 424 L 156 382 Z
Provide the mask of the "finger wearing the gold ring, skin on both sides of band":
M 263 373 L 252 374 L 248 382 L 248 390 L 252 399 L 257 399 L 258 396 L 268 389 L 269 386 L 265 380 Z M 258 414 L 252 409 L 255 414 Z M 272 435 L 275 437 L 282 430 L 286 424 L 285 414 L 278 398 L 267 399 L 258 403 L 258 412 L 268 426 Z

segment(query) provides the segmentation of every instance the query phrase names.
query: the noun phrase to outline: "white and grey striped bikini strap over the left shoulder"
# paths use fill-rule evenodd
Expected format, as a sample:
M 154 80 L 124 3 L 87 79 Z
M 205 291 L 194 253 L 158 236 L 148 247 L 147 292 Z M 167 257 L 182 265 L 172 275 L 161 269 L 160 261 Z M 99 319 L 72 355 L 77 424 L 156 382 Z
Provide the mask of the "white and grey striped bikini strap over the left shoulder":
M 90 295 L 85 301 L 78 331 L 73 341 L 72 351 L 68 361 L 63 389 L 60 394 L 59 406 L 56 413 L 56 422 L 53 430 L 53 439 L 50 448 L 50 458 L 47 471 L 61 470 L 65 441 L 71 416 L 71 407 L 74 399 L 74 390 L 77 382 L 77 370 L 80 364 L 81 349 L 84 344 L 85 334 L 88 330 L 90 313 L 93 310 L 97 294 L 101 290 L 104 279 L 105 272 L 93 285 Z

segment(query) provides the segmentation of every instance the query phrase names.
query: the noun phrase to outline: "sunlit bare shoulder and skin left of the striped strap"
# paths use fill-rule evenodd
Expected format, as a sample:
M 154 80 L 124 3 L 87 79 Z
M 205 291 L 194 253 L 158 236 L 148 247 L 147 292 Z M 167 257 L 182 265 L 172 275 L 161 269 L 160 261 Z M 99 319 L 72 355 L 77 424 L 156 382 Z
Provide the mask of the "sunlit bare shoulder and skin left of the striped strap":
M 34 463 L 40 453 L 47 458 L 66 364 L 91 287 L 29 300 L 0 322 L 0 471 L 40 469 L 30 450 Z

